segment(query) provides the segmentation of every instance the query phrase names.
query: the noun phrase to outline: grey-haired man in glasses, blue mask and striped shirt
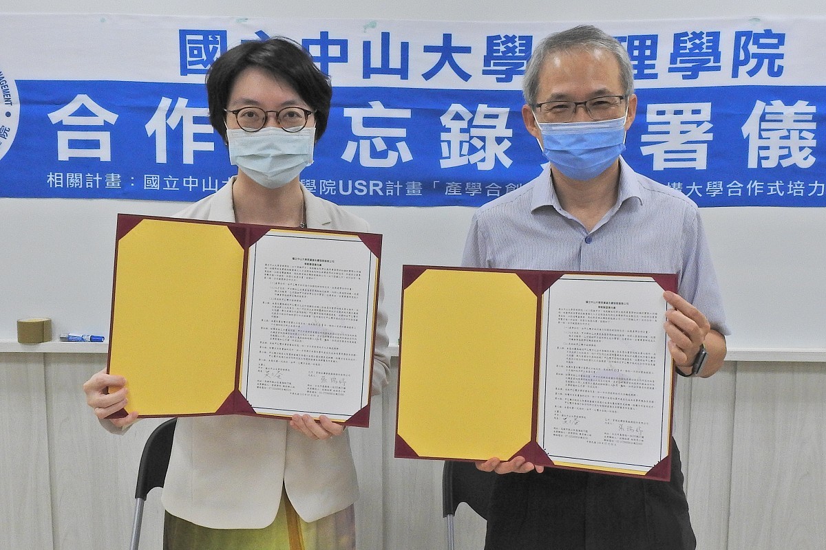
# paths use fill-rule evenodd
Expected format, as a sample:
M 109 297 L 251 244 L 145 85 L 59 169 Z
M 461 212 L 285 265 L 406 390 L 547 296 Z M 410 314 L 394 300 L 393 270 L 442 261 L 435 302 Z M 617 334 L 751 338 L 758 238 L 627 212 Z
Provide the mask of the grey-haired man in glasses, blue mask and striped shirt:
M 549 35 L 523 81 L 525 127 L 548 165 L 473 216 L 465 266 L 676 273 L 665 322 L 677 374 L 723 364 L 722 299 L 696 205 L 624 162 L 637 96 L 628 53 L 593 26 Z M 515 457 L 477 468 L 496 478 L 486 550 L 695 548 L 672 440 L 670 482 L 543 468 Z

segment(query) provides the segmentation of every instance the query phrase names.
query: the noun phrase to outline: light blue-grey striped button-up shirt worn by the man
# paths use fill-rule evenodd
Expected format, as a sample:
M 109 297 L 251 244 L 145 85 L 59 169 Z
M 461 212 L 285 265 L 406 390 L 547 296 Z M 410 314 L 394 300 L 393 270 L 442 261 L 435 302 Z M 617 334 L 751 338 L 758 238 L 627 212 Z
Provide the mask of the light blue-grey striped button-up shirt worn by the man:
M 696 204 L 619 159 L 616 204 L 589 233 L 542 174 L 473 215 L 463 265 L 497 269 L 676 273 L 679 294 L 729 334 Z

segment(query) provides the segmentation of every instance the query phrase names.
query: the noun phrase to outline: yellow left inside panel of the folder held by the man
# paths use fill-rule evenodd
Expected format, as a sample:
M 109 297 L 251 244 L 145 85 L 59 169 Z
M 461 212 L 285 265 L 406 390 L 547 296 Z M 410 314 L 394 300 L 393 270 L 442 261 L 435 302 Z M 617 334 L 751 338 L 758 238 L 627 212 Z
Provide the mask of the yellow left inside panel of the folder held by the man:
M 404 290 L 398 435 L 420 457 L 531 440 L 537 298 L 510 273 L 425 270 Z

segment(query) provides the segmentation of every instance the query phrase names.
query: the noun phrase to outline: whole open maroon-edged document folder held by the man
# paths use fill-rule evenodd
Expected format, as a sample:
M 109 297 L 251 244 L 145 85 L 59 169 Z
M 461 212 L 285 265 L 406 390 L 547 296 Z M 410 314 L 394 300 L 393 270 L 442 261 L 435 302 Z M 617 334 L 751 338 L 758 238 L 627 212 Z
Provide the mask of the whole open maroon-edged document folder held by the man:
M 676 275 L 403 266 L 396 457 L 668 480 Z

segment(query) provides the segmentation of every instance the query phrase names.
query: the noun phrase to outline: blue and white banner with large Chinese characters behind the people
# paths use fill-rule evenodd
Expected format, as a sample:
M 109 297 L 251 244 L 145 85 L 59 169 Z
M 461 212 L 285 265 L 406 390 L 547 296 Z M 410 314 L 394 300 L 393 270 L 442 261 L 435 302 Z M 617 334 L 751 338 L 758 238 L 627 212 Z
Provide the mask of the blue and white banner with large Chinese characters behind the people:
M 630 165 L 700 206 L 826 206 L 826 20 L 596 23 L 629 50 Z M 186 200 L 235 173 L 204 75 L 286 35 L 335 87 L 301 179 L 338 204 L 478 206 L 544 162 L 525 62 L 573 23 L 2 14 L 0 196 Z

